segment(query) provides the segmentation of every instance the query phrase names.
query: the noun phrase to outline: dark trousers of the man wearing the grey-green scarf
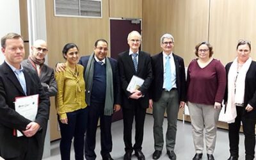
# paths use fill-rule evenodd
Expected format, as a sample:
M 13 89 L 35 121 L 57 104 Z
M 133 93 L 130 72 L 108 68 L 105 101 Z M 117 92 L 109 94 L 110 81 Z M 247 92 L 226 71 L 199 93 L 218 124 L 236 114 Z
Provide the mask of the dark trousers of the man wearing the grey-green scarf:
M 108 156 L 112 151 L 112 136 L 111 136 L 111 120 L 112 116 L 104 115 L 104 103 L 91 102 L 89 107 L 88 129 L 85 136 L 84 155 L 87 160 L 96 159 L 95 139 L 98 121 L 100 118 L 100 154 L 102 157 Z

